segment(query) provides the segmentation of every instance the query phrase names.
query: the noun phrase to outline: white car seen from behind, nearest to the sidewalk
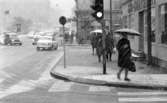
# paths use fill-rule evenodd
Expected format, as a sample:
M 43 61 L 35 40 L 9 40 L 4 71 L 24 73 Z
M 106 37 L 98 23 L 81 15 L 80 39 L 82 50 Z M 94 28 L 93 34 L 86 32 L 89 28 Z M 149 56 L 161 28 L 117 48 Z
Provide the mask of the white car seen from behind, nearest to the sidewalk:
M 43 36 L 37 41 L 37 51 L 39 50 L 57 50 L 58 42 L 54 39 L 53 36 Z

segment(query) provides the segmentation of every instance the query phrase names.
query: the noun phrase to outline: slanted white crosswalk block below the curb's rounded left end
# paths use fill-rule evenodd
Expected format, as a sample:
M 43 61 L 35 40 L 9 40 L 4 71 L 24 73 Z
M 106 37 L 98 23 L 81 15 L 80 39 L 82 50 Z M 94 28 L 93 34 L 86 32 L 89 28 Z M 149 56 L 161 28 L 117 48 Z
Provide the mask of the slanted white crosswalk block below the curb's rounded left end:
M 51 88 L 48 90 L 48 92 L 68 92 L 71 90 L 71 86 L 74 83 L 72 82 L 64 82 L 61 80 L 58 80 L 56 83 L 54 83 Z

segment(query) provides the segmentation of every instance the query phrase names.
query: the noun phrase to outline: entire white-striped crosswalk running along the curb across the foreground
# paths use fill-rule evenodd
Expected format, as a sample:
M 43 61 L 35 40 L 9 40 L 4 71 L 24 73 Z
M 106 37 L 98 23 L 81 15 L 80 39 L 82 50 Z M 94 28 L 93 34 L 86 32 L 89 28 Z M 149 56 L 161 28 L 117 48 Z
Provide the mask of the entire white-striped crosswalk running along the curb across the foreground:
M 12 95 L 33 91 L 36 88 L 45 89 L 48 93 L 67 93 L 67 92 L 86 92 L 86 93 L 103 93 L 112 94 L 117 97 L 118 103 L 166 103 L 166 91 L 147 91 L 147 90 L 126 90 L 117 89 L 116 87 L 86 85 L 62 80 L 54 80 L 50 77 L 39 78 L 38 80 L 21 80 L 6 89 L 1 88 L 5 79 L 0 79 L 0 99 Z M 46 88 L 43 88 L 46 86 Z M 84 89 L 83 89 L 84 88 Z M 111 95 L 111 96 L 112 96 Z

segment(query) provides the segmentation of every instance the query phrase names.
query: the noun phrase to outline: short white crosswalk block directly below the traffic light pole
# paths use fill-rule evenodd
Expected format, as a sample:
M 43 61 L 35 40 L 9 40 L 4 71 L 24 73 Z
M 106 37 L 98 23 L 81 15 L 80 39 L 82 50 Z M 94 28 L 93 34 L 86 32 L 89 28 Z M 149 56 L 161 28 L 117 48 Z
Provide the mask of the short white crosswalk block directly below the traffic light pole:
M 110 92 L 111 88 L 105 87 L 105 86 L 90 86 L 89 91 L 90 92 Z

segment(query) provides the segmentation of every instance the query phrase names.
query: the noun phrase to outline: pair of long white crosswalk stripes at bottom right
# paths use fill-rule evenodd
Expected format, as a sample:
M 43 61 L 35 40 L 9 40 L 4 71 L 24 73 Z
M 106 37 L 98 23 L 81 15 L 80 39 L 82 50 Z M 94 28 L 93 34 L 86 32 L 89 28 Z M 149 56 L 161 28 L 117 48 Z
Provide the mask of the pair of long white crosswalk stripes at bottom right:
M 117 95 L 120 103 L 167 102 L 167 92 L 165 91 L 118 92 Z

